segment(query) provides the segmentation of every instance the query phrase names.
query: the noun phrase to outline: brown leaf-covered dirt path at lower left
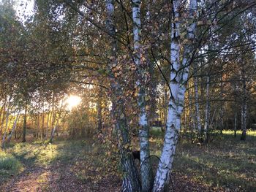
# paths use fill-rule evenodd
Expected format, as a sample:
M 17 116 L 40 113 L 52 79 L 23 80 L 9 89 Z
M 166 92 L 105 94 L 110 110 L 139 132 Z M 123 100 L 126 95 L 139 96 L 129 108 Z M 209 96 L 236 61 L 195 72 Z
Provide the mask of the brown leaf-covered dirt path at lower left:
M 12 177 L 0 188 L 3 192 L 34 191 L 119 191 L 120 180 L 111 177 L 94 183 L 81 183 L 71 172 L 71 166 L 54 164 L 48 167 L 30 167 Z

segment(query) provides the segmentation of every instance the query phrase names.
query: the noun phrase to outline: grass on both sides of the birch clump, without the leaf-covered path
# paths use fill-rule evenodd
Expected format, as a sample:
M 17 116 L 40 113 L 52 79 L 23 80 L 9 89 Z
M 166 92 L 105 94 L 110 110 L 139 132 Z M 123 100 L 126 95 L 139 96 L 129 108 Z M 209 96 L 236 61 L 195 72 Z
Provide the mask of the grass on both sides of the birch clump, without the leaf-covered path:
M 151 131 L 152 155 L 160 155 L 162 132 Z M 181 135 L 173 161 L 173 173 L 183 180 L 215 191 L 256 191 L 256 131 L 247 131 L 246 141 L 240 141 L 241 131 L 214 133 L 207 146 L 192 144 Z M 138 142 L 138 139 L 135 143 Z M 6 180 L 29 166 L 69 166 L 78 180 L 94 183 L 118 174 L 118 158 L 108 154 L 107 145 L 94 144 L 92 139 L 56 140 L 48 142 L 14 143 L 0 152 L 0 177 Z M 137 145 L 136 145 L 137 146 Z M 157 167 L 158 159 L 154 158 Z M 64 174 L 64 173 L 63 173 Z M 38 180 L 45 182 L 47 175 Z M 91 185 L 91 184 L 90 184 Z

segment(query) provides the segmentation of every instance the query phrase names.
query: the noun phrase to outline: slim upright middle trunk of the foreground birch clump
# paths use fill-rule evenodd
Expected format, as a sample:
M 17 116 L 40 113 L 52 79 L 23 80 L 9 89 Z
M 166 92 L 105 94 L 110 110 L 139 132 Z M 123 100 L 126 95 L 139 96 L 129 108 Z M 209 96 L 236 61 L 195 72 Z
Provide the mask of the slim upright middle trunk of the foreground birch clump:
M 139 88 L 138 93 L 138 107 L 140 109 L 139 114 L 139 138 L 140 138 L 140 179 L 142 191 L 151 191 L 153 185 L 153 176 L 151 172 L 151 164 L 149 159 L 149 129 L 148 129 L 148 119 L 146 115 L 146 101 L 145 94 L 146 90 L 143 86 L 143 69 L 141 64 L 141 53 L 140 53 L 140 0 L 132 0 L 132 19 L 133 19 L 133 38 L 134 38 L 134 50 L 135 56 L 134 61 L 138 67 L 138 81 L 136 82 Z

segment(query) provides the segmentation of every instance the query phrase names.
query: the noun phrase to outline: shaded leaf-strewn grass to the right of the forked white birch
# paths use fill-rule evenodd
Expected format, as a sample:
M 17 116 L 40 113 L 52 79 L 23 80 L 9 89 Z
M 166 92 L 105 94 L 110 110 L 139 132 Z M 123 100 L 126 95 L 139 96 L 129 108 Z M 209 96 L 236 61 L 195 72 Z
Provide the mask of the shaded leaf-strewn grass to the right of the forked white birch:
M 154 133 L 156 134 L 156 133 Z M 256 131 L 247 131 L 246 141 L 240 141 L 241 131 L 215 134 L 207 146 L 192 144 L 189 139 L 178 142 L 173 172 L 191 183 L 217 191 L 256 191 Z M 162 135 L 154 137 L 151 147 L 160 155 Z

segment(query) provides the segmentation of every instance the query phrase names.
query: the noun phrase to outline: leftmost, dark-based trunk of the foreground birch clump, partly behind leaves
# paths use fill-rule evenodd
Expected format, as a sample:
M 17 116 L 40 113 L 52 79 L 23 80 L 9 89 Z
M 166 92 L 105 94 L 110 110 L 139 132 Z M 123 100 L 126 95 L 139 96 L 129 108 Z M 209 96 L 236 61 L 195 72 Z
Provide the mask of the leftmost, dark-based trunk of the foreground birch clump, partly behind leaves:
M 111 47 L 111 60 L 109 62 L 109 69 L 113 69 L 113 66 L 117 64 L 117 42 L 116 42 L 116 29 L 113 23 L 114 17 L 114 4 L 113 0 L 105 0 L 106 10 L 107 10 L 107 19 L 106 27 L 108 33 L 110 34 L 110 47 Z M 110 74 L 114 77 L 114 75 Z M 118 80 L 112 78 L 110 80 L 110 88 L 113 92 L 113 118 L 116 120 L 115 127 L 118 132 L 118 149 L 121 155 L 121 168 L 124 172 L 124 179 L 121 187 L 121 191 L 140 191 L 140 184 L 138 179 L 138 171 L 135 166 L 135 160 L 132 156 L 131 151 L 128 147 L 130 145 L 129 134 L 127 130 L 127 117 L 124 114 L 124 100 L 122 99 L 123 91 L 121 85 L 118 83 Z

